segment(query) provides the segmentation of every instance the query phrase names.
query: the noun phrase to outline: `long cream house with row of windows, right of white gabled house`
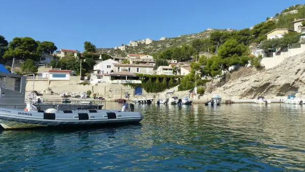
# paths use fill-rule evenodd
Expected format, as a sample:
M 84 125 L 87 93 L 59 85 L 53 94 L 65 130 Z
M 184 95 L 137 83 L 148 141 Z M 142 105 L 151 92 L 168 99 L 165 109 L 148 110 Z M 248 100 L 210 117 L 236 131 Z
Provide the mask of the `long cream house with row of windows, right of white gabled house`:
M 143 73 L 143 74 L 154 74 L 153 65 L 137 65 L 137 64 L 121 64 L 113 63 L 113 72 L 133 72 L 133 73 Z

